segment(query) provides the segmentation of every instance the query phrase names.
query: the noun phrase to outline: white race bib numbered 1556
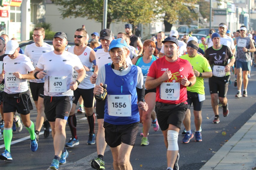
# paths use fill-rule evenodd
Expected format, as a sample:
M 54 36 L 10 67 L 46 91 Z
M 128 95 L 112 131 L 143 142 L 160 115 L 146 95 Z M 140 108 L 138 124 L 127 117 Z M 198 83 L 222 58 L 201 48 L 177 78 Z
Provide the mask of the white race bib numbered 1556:
M 108 95 L 108 115 L 132 116 L 131 95 Z

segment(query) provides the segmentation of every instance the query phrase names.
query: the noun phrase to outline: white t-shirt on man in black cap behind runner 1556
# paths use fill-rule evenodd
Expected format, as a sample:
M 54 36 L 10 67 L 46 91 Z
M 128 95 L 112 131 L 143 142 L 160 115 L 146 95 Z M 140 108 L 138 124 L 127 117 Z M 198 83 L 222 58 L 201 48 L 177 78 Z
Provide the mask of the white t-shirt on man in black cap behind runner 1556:
M 95 58 L 96 58 L 96 65 L 98 66 L 98 69 L 104 66 L 105 64 L 112 63 L 110 54 L 108 52 L 105 52 L 104 48 L 97 50 L 95 54 Z

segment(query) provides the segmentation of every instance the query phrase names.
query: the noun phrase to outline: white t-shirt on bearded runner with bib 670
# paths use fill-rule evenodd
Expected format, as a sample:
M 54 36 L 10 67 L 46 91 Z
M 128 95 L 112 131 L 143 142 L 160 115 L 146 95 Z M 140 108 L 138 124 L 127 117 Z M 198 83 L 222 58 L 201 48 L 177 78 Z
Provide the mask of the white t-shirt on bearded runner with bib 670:
M 37 67 L 46 71 L 44 95 L 47 96 L 74 95 L 69 87 L 74 69 L 84 68 L 78 56 L 68 51 L 64 51 L 61 55 L 55 54 L 54 51 L 42 54 L 38 60 Z

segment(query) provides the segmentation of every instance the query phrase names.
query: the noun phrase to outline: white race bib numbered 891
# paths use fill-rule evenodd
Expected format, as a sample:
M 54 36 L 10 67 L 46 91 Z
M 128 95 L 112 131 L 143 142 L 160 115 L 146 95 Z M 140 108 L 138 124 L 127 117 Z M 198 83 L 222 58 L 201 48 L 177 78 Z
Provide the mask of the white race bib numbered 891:
M 180 99 L 180 83 L 161 83 L 160 98 L 163 100 L 179 100 Z

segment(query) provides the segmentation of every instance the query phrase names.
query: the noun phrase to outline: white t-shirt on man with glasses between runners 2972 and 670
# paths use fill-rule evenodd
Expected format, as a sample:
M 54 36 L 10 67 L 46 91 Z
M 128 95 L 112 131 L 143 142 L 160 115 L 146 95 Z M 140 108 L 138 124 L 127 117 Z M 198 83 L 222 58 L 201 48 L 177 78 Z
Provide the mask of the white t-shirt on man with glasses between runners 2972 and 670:
M 49 51 L 53 51 L 54 48 L 52 45 L 47 44 L 46 42 L 44 42 L 44 45 L 41 47 L 38 47 L 35 45 L 35 42 L 32 44 L 29 44 L 26 46 L 25 50 L 24 50 L 24 54 L 26 56 L 28 56 L 32 63 L 33 66 L 36 67 L 39 57 L 44 54 L 47 53 Z M 34 82 L 34 83 L 44 83 L 44 79 L 34 79 L 34 80 L 29 80 L 30 82 Z

